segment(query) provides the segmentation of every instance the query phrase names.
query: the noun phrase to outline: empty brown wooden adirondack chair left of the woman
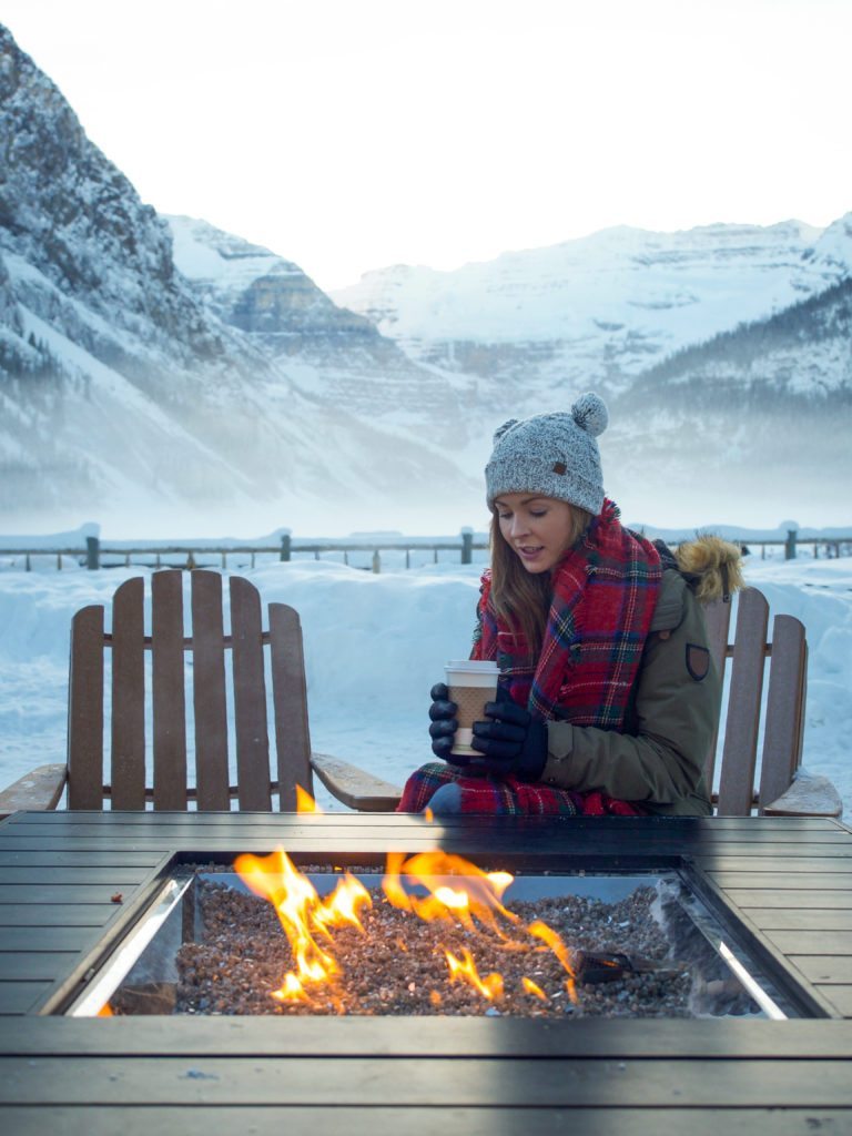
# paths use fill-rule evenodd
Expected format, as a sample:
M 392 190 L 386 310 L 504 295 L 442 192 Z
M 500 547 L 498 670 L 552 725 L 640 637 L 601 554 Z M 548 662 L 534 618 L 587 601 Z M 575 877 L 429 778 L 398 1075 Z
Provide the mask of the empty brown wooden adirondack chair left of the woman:
M 144 579 L 122 584 L 112 601 L 112 630 L 105 633 L 100 604 L 72 621 L 68 680 L 68 760 L 41 766 L 0 793 L 0 812 L 53 809 L 67 785 L 69 809 L 187 808 L 269 810 L 273 796 L 295 810 L 296 785 L 314 791 L 314 772 L 344 804 L 392 810 L 401 790 L 348 762 L 312 753 L 299 616 L 270 603 L 261 629 L 260 594 L 232 576 L 231 634 L 223 623 L 222 576 L 191 574 L 192 635 L 184 637 L 183 573 L 151 577 L 152 634 L 143 628 Z M 265 645 L 269 645 L 268 665 Z M 109 775 L 103 772 L 105 653 L 111 659 Z M 152 784 L 145 778 L 145 654 L 151 655 Z M 231 653 L 231 667 L 226 654 Z M 187 784 L 186 666 L 192 667 L 195 784 Z M 227 670 L 236 742 L 236 784 L 228 777 Z M 272 678 L 277 766 L 270 771 L 267 676 Z

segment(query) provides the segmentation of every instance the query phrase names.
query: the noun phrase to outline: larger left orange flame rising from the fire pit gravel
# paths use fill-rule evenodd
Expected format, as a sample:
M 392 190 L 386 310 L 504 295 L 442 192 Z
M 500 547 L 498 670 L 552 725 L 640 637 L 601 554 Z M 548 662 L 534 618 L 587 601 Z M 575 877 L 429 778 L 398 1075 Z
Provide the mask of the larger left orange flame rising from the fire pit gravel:
M 264 858 L 240 855 L 234 868 L 252 892 L 273 904 L 293 952 L 295 969 L 284 976 L 273 997 L 279 1002 L 310 1002 L 306 986 L 328 986 L 340 974 L 337 960 L 319 945 L 316 936 L 331 938 L 328 929 L 345 924 L 364 930 L 358 910 L 373 905 L 369 892 L 346 872 L 333 894 L 320 900 L 284 849 Z

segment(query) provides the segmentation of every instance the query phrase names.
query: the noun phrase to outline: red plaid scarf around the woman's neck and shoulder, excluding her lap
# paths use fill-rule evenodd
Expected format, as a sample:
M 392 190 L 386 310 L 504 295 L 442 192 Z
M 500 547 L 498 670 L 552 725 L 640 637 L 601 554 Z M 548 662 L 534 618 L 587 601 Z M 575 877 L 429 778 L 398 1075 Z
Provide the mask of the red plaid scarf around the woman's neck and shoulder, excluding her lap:
M 495 659 L 512 699 L 537 718 L 624 728 L 661 578 L 657 549 L 623 528 L 618 508 L 605 501 L 556 568 L 538 658 L 523 634 L 498 619 L 490 571 L 473 658 Z

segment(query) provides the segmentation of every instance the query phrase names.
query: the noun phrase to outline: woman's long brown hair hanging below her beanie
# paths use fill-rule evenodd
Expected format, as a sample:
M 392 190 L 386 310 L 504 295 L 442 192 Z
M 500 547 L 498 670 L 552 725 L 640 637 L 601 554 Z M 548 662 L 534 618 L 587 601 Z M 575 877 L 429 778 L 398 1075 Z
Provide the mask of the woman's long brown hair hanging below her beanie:
M 592 521 L 592 513 L 576 504 L 570 507 L 573 528 L 568 546 L 573 548 Z M 524 634 L 529 652 L 538 657 L 548 625 L 548 611 L 553 594 L 549 571 L 528 573 L 517 552 L 500 532 L 500 517 L 491 510 L 491 599 L 498 617 Z

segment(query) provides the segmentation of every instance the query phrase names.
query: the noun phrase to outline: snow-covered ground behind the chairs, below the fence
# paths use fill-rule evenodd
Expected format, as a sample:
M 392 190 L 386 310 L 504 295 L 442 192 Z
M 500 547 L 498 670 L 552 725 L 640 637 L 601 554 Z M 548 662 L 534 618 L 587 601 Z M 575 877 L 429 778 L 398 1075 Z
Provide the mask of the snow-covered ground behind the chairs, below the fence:
M 265 602 L 290 603 L 301 615 L 315 750 L 398 783 L 431 757 L 428 691 L 446 659 L 468 654 L 481 569 L 446 562 L 374 575 L 308 559 L 241 569 Z M 45 561 L 24 573 L 3 568 L 0 557 L 0 786 L 64 760 L 70 617 L 86 603 L 108 603 L 139 573 L 90 573 L 67 559 L 62 571 Z M 746 574 L 770 615 L 794 615 L 808 629 L 804 761 L 835 783 L 849 819 L 852 558 L 749 558 Z M 317 799 L 335 807 L 321 786 Z

